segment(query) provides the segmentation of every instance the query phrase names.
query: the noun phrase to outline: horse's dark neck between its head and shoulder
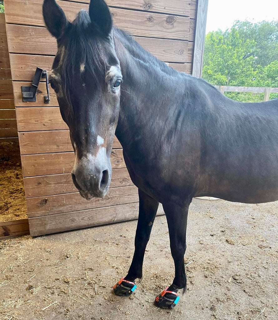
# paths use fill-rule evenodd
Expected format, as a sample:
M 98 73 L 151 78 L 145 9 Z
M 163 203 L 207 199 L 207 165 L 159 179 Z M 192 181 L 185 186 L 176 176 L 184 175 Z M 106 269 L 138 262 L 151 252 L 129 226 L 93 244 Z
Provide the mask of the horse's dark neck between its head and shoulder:
M 124 37 L 115 39 L 115 49 L 123 74 L 116 136 L 128 150 L 134 142 L 159 134 L 157 123 L 165 122 L 175 82 L 181 76 L 166 64 Z M 180 80 L 180 79 L 179 79 Z M 155 125 L 156 124 L 156 125 Z M 155 137 L 153 137 L 155 138 Z

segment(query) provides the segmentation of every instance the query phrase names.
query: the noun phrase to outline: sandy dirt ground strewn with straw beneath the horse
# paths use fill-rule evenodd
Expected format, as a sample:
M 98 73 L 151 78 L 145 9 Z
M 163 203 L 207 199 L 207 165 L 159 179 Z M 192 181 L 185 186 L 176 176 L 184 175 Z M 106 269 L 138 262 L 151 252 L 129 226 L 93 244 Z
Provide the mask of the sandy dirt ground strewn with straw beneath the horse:
M 143 279 L 129 298 L 126 275 L 136 221 L 0 242 L 0 319 L 278 319 L 278 202 L 194 199 L 185 256 L 188 291 L 173 310 L 155 307 L 174 269 L 165 216 L 155 220 Z

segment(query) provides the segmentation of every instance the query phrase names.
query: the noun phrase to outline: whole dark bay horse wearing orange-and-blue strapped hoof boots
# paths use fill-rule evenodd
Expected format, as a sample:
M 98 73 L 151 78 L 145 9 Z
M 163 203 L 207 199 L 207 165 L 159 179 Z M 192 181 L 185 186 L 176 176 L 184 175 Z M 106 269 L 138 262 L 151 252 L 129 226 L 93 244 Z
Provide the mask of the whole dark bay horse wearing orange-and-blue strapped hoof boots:
M 129 295 L 142 277 L 158 204 L 166 214 L 173 283 L 156 297 L 177 304 L 186 288 L 187 212 L 194 196 L 263 203 L 278 200 L 278 99 L 241 103 L 202 79 L 169 68 L 113 27 L 103 0 L 69 22 L 44 0 L 46 27 L 57 38 L 50 74 L 75 151 L 72 179 L 86 199 L 104 197 L 111 179 L 114 133 L 139 191 L 135 252 L 115 285 Z

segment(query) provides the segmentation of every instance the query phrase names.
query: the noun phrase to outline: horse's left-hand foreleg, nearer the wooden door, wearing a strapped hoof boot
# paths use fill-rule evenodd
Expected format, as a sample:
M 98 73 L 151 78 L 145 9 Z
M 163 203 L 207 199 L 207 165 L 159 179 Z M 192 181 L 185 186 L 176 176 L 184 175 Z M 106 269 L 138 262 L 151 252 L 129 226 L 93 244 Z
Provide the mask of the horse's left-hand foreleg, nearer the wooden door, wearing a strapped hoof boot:
M 139 217 L 135 235 L 135 250 L 128 274 L 114 286 L 117 295 L 128 296 L 135 289 L 134 280 L 142 278 L 142 266 L 147 243 L 155 220 L 159 202 L 142 190 L 139 193 Z

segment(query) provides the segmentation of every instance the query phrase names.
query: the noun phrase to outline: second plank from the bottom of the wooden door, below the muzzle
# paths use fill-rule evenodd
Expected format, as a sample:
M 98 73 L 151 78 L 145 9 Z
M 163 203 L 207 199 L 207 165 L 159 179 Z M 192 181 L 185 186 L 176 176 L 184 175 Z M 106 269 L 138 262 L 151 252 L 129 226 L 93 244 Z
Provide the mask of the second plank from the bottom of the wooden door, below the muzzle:
M 110 188 L 104 198 L 92 198 L 90 201 L 79 192 L 62 195 L 27 198 L 28 218 L 47 216 L 57 213 L 115 206 L 138 202 L 138 188 L 135 186 Z

